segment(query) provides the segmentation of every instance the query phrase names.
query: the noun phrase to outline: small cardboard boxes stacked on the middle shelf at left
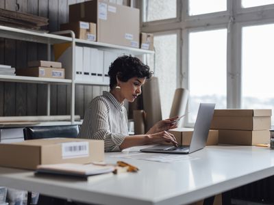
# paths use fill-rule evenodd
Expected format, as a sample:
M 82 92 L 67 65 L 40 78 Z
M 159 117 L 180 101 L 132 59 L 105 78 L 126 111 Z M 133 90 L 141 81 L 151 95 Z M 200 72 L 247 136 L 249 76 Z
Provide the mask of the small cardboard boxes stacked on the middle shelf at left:
M 16 75 L 64 79 L 64 68 L 56 61 L 29 61 L 28 68 L 16 70 Z

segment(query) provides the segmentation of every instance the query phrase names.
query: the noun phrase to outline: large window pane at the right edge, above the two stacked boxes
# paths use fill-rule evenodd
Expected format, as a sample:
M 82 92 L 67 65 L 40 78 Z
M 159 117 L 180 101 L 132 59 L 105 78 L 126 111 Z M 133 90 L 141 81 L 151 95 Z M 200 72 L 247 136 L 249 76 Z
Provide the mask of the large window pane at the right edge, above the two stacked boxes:
M 274 24 L 242 28 L 242 108 L 274 109 Z M 274 118 L 272 118 L 273 122 Z

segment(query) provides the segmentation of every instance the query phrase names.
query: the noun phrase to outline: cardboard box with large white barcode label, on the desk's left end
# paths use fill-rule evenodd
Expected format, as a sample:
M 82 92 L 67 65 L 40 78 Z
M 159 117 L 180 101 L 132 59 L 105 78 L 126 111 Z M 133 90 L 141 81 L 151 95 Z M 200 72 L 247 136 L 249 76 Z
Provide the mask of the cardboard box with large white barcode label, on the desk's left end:
M 36 169 L 54 163 L 104 160 L 103 140 L 50 138 L 0 143 L 0 166 Z

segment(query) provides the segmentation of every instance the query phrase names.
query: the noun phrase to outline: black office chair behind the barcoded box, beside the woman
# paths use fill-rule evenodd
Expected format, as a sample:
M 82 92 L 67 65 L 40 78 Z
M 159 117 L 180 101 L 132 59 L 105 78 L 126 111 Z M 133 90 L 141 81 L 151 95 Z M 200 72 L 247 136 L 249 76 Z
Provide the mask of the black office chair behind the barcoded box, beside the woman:
M 79 134 L 79 125 L 69 124 L 60 126 L 31 126 L 23 128 L 24 139 L 45 139 L 53 137 L 76 138 Z M 66 204 L 65 200 L 55 197 L 39 196 L 39 204 Z M 27 204 L 32 204 L 32 192 L 27 192 Z

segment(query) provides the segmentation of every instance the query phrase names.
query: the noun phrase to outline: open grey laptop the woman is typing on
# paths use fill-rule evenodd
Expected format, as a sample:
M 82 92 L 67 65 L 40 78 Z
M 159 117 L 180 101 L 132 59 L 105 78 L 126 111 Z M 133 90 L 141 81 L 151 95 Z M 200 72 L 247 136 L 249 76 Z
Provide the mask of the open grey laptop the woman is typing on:
M 192 134 L 190 146 L 158 145 L 140 150 L 141 152 L 160 152 L 174 154 L 189 154 L 206 146 L 210 124 L 213 118 L 215 104 L 201 103 Z

